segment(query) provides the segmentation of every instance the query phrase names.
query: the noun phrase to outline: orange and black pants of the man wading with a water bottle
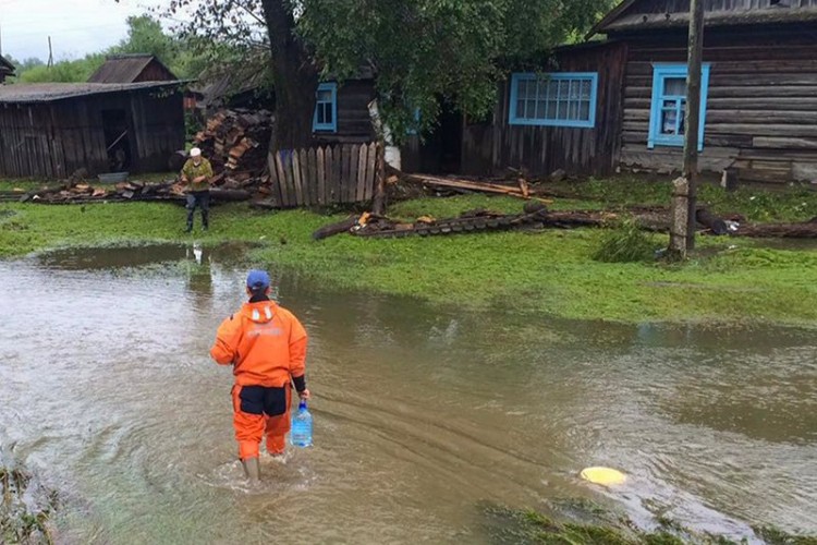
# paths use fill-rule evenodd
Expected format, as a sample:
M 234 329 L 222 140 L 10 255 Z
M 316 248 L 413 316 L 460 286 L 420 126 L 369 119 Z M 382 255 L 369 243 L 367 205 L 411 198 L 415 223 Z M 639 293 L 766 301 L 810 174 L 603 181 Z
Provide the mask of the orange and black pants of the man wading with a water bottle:
M 285 436 L 290 431 L 289 386 L 264 388 L 261 386 L 233 386 L 233 427 L 239 441 L 239 457 L 242 460 L 257 458 L 260 443 L 267 436 L 267 451 L 270 455 L 283 453 Z M 283 412 L 281 412 L 283 411 Z

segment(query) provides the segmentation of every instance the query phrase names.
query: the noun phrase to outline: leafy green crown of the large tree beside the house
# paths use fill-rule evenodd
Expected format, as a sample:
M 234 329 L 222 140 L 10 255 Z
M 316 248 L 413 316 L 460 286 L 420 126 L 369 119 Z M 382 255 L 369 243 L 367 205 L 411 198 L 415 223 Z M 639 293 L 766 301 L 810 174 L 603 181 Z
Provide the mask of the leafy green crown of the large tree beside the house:
M 431 129 L 440 98 L 487 114 L 498 82 L 513 68 L 582 32 L 609 0 L 304 0 L 297 20 L 324 75 L 373 66 L 382 114 L 397 140 Z M 539 62 L 536 63 L 539 65 Z

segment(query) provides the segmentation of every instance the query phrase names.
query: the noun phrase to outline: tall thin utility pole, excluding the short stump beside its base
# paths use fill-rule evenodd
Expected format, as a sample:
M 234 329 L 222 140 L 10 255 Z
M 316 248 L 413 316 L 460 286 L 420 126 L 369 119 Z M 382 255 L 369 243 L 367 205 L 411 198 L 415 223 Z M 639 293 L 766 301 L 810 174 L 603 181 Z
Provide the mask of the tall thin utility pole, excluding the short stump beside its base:
M 686 73 L 686 119 L 683 175 L 688 181 L 686 250 L 695 249 L 695 205 L 698 185 L 698 140 L 700 135 L 700 72 L 704 58 L 704 0 L 691 0 L 690 51 Z

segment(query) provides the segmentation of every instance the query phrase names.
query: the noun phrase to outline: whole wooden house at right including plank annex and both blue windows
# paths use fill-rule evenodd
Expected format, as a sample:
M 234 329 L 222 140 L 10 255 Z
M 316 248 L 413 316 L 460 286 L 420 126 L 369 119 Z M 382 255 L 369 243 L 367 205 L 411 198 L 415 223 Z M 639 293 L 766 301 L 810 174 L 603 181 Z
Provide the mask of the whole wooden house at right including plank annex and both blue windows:
M 470 173 L 605 175 L 682 164 L 690 0 L 625 0 L 463 125 Z M 817 181 L 817 0 L 705 0 L 700 168 Z M 589 109 L 587 108 L 589 101 Z

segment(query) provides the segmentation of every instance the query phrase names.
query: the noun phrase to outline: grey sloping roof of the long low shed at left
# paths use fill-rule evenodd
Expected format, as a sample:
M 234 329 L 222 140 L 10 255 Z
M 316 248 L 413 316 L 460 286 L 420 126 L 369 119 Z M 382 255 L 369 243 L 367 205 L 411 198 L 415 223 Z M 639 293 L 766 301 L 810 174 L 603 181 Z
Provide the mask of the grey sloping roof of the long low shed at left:
M 122 93 L 142 90 L 183 84 L 173 82 L 139 82 L 139 83 L 33 83 L 27 85 L 3 85 L 0 87 L 0 104 L 12 102 L 48 102 L 103 93 Z

